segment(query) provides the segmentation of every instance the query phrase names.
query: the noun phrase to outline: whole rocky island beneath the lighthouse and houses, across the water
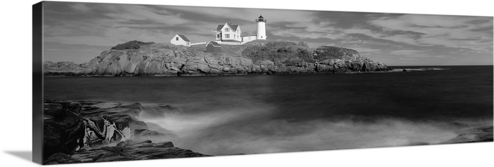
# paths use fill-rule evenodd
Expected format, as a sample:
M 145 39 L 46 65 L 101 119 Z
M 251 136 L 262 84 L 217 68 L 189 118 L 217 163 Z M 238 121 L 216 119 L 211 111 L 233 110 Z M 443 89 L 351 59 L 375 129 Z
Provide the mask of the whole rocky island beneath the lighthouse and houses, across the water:
M 387 71 L 357 51 L 304 42 L 252 41 L 242 46 L 222 46 L 223 53 L 206 53 L 192 47 L 151 43 L 138 49 L 112 49 L 88 63 L 69 65 L 60 75 L 77 76 L 207 76 L 247 74 L 348 73 Z M 45 63 L 45 75 L 54 75 L 55 63 Z

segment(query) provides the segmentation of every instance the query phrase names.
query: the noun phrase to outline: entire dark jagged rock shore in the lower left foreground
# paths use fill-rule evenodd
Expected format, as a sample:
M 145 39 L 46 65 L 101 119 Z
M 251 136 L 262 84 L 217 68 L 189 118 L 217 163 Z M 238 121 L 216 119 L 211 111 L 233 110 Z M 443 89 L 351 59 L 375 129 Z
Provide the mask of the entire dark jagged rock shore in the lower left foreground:
M 143 108 L 154 110 L 147 113 Z M 175 148 L 171 141 L 132 141 L 173 135 L 139 119 L 143 115 L 165 117 L 176 110 L 164 104 L 143 107 L 139 103 L 46 100 L 43 159 L 45 164 L 66 164 L 208 156 Z

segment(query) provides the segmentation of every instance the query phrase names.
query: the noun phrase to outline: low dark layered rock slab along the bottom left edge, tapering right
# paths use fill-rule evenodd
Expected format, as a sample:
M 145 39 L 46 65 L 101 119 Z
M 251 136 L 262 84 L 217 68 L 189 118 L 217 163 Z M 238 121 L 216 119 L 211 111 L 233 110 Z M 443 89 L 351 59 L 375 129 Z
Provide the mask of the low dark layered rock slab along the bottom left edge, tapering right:
M 117 146 L 107 146 L 89 150 L 81 149 L 69 154 L 56 153 L 51 155 L 44 164 L 74 164 L 208 156 L 210 155 L 176 148 L 173 146 L 173 143 L 169 141 L 152 143 L 151 140 L 146 140 L 139 143 L 133 143 L 132 140 L 127 140 L 120 142 Z

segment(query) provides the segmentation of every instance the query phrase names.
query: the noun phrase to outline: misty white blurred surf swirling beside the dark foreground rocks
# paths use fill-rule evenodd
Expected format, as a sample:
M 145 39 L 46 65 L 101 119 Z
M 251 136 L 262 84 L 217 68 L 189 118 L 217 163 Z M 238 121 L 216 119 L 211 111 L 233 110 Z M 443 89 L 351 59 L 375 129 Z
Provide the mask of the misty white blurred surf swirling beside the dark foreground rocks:
M 202 114 L 169 114 L 145 119 L 176 136 L 176 146 L 209 155 L 276 153 L 349 148 L 438 144 L 472 127 L 492 125 L 489 119 L 409 121 L 376 118 L 371 122 L 348 119 L 315 119 L 303 122 L 270 120 L 272 107 L 228 110 Z

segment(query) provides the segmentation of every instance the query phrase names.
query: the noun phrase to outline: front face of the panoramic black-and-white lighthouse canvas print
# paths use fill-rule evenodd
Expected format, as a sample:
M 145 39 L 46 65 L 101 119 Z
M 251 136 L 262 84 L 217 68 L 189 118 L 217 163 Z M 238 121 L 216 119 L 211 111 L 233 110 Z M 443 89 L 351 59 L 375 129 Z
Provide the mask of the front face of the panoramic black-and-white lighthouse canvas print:
M 493 141 L 492 16 L 41 5 L 43 164 Z

